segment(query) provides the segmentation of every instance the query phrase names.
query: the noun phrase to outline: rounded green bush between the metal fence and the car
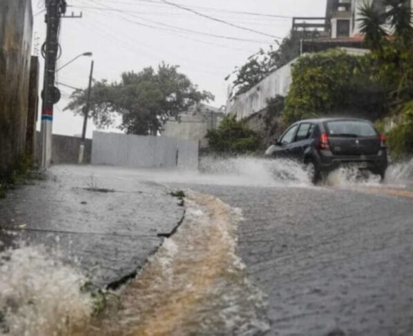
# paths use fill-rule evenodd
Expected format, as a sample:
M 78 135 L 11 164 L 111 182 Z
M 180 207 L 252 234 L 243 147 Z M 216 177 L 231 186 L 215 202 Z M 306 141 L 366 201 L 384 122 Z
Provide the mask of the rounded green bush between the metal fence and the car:
M 220 154 L 245 154 L 260 148 L 261 137 L 235 116 L 224 117 L 217 130 L 209 130 L 209 147 Z

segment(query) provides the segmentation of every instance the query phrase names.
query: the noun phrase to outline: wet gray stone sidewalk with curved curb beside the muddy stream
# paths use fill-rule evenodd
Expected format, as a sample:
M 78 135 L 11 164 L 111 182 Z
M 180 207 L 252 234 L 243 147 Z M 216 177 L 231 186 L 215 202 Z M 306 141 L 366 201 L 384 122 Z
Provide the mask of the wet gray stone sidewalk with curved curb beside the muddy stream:
M 44 244 L 97 286 L 142 268 L 184 216 L 171 190 L 132 170 L 55 166 L 46 181 L 29 182 L 0 200 L 0 250 Z

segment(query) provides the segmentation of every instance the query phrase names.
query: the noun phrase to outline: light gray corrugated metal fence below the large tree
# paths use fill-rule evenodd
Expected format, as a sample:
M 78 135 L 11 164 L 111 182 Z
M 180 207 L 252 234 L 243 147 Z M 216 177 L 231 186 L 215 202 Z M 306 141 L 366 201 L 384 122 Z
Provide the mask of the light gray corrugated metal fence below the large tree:
M 198 143 L 171 137 L 93 132 L 92 164 L 198 168 Z

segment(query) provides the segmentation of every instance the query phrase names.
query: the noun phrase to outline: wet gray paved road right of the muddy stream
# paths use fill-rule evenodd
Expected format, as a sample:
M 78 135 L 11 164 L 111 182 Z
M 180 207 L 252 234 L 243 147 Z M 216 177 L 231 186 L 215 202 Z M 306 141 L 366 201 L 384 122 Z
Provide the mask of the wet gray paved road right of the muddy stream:
M 242 208 L 238 251 L 269 335 L 413 335 L 412 192 L 189 187 Z

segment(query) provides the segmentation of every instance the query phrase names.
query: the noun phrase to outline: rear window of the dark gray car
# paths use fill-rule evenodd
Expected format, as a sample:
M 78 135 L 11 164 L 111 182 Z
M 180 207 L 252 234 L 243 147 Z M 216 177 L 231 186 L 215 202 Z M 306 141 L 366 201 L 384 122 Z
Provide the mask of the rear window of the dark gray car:
M 336 120 L 325 123 L 330 137 L 375 137 L 377 132 L 371 123 L 360 120 Z

